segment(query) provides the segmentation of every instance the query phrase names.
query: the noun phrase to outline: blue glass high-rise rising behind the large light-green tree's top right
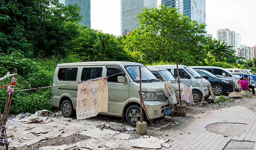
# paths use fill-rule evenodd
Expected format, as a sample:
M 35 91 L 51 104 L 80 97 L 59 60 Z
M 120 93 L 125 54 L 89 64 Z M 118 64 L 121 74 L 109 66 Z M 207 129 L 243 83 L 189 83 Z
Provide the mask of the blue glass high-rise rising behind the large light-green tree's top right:
M 161 0 L 165 8 L 178 8 L 179 13 L 185 13 L 190 20 L 206 23 L 206 0 Z

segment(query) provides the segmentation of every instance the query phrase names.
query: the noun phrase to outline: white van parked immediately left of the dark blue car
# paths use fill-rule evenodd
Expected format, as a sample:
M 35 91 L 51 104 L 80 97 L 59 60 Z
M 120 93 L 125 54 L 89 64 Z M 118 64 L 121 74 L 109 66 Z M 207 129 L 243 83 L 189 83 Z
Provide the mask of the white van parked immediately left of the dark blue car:
M 162 67 L 164 69 L 167 69 L 170 71 L 175 78 L 177 78 L 177 69 L 176 65 L 154 65 L 153 67 Z M 178 65 L 178 71 L 180 75 L 180 81 L 183 84 L 186 84 L 188 87 L 190 85 L 193 87 L 193 99 L 194 102 L 199 102 L 202 100 L 203 94 L 205 95 L 205 99 L 208 99 L 210 96 L 210 91 L 209 91 L 209 85 L 210 82 L 207 81 L 206 79 L 202 79 L 201 83 L 201 76 L 198 74 L 194 69 L 191 67 L 188 67 L 186 65 Z M 202 89 L 203 85 L 203 89 Z

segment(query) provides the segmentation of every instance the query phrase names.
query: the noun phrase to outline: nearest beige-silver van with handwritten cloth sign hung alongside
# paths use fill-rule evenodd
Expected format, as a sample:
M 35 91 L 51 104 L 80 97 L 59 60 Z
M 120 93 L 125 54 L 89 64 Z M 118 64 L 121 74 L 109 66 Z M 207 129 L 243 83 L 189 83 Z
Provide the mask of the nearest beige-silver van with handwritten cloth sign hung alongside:
M 99 114 L 126 117 L 127 122 L 131 126 L 136 127 L 136 122 L 140 120 L 141 116 L 140 73 L 139 69 L 132 69 L 139 66 L 141 67 L 143 77 L 142 98 L 149 117 L 146 116 L 143 110 L 142 119 L 156 119 L 172 113 L 174 106 L 170 105 L 168 98 L 162 91 L 162 82 L 155 79 L 147 67 L 140 63 L 113 61 L 58 64 L 54 73 L 53 85 L 110 76 L 107 78 L 109 92 L 108 112 L 100 112 Z M 60 107 L 65 117 L 75 115 L 77 89 L 77 84 L 55 86 L 52 88 L 52 105 Z

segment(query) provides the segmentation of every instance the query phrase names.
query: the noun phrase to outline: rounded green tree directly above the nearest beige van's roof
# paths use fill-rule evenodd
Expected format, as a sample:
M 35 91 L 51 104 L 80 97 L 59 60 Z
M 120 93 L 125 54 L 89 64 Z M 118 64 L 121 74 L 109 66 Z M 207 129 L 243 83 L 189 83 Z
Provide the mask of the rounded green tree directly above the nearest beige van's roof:
M 129 61 L 129 56 L 117 37 L 87 27 L 79 29 L 79 36 L 72 41 L 72 54 L 85 61 Z

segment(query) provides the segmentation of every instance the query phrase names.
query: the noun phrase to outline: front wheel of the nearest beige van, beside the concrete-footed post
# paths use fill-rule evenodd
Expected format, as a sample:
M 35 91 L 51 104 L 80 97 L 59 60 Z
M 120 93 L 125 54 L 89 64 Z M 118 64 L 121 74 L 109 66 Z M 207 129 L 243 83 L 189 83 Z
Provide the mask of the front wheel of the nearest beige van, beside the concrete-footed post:
M 126 120 L 132 126 L 136 127 L 136 122 L 140 121 L 140 107 L 138 105 L 132 105 L 126 110 Z M 142 120 L 146 121 L 147 117 L 144 111 L 142 111 Z

